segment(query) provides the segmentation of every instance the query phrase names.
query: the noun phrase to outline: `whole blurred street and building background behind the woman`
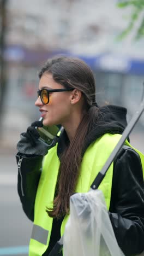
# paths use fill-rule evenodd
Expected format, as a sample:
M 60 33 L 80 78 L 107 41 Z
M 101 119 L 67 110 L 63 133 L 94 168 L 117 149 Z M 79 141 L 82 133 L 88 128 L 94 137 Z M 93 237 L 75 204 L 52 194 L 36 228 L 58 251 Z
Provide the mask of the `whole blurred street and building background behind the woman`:
M 134 4 L 135 3 L 135 4 Z M 17 195 L 16 143 L 39 119 L 38 71 L 64 54 L 88 63 L 99 105 L 140 106 L 144 81 L 144 2 L 0 0 L 0 255 L 28 255 L 32 223 Z M 130 135 L 144 153 L 144 114 Z

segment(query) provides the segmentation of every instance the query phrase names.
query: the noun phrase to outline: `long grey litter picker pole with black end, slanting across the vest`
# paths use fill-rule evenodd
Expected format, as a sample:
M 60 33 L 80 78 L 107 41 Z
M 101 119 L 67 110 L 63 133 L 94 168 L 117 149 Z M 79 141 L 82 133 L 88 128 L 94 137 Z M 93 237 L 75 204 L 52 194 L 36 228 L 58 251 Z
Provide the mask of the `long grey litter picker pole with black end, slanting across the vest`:
M 140 119 L 143 111 L 144 111 L 144 83 L 143 83 L 143 94 L 142 94 L 140 107 L 134 114 L 133 118 L 130 120 L 127 127 L 125 128 L 124 132 L 122 133 L 121 139 L 119 139 L 119 142 L 117 143 L 115 149 L 113 149 L 113 152 L 111 153 L 110 157 L 107 159 L 104 167 L 101 169 L 97 177 L 94 179 L 91 185 L 90 191 L 98 189 L 100 183 L 103 181 L 103 178 L 105 177 L 107 170 L 109 169 L 113 160 L 116 158 L 116 155 L 118 154 L 119 150 L 123 146 L 125 140 L 128 138 L 130 132 L 133 130 L 135 124 Z M 49 253 L 49 256 L 58 256 L 59 253 L 62 251 L 62 248 L 63 248 L 63 236 L 60 238 L 59 241 L 56 242 L 55 246 L 52 248 L 51 252 Z

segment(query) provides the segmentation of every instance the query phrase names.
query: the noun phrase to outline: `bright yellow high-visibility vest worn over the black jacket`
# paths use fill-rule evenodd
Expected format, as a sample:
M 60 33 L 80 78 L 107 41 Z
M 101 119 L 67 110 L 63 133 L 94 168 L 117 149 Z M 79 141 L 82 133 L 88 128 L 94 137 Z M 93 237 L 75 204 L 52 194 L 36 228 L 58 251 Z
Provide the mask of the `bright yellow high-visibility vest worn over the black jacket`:
M 106 133 L 87 148 L 80 166 L 80 176 L 76 185 L 76 193 L 86 193 L 89 191 L 95 177 L 104 166 L 121 136 L 122 135 L 111 135 L 110 133 Z M 125 144 L 133 148 L 128 141 L 126 141 Z M 138 150 L 136 150 L 136 152 L 140 155 L 144 170 L 144 155 Z M 56 145 L 49 150 L 44 159 L 43 171 L 41 173 L 37 196 L 35 198 L 34 224 L 29 243 L 29 256 L 43 255 L 49 246 L 53 219 L 46 213 L 46 207 L 53 206 L 59 164 Z M 112 174 L 113 163 L 109 167 L 109 170 L 106 172 L 106 175 L 98 188 L 103 191 L 107 210 L 109 210 L 110 207 Z M 69 216 L 66 215 L 62 222 L 61 236 L 64 233 L 68 217 Z

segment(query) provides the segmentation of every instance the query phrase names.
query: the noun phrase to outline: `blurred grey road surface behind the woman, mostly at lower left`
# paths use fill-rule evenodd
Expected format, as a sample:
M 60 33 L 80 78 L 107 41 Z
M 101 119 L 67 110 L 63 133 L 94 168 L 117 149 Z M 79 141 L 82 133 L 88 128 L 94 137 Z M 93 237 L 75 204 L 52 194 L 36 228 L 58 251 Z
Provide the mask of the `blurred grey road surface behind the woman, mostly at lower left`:
M 130 140 L 133 146 L 144 153 L 143 133 L 131 133 Z M 21 254 L 19 249 L 21 252 L 27 251 L 32 230 L 32 222 L 23 213 L 17 195 L 15 153 L 14 149 L 5 149 L 5 152 L 0 149 L 0 255 L 28 255 Z

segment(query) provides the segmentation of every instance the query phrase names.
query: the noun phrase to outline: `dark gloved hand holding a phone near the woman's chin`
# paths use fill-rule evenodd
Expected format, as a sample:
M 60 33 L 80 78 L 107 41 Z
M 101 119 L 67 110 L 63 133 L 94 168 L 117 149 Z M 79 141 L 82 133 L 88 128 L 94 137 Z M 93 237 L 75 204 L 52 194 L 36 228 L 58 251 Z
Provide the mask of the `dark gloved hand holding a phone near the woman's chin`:
M 27 128 L 26 132 L 22 132 L 20 141 L 17 143 L 17 150 L 23 155 L 46 155 L 48 145 L 39 140 L 39 132 L 35 127 L 42 127 L 42 121 L 35 121 Z

